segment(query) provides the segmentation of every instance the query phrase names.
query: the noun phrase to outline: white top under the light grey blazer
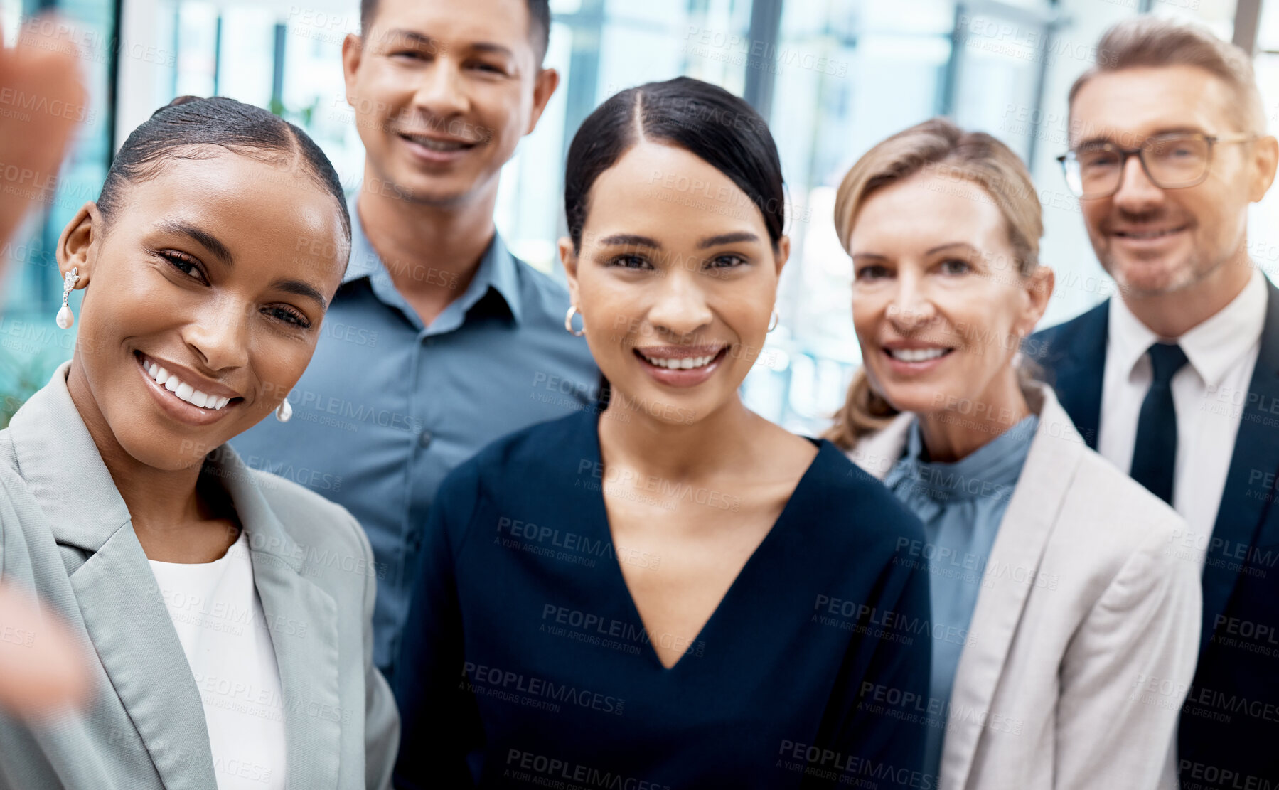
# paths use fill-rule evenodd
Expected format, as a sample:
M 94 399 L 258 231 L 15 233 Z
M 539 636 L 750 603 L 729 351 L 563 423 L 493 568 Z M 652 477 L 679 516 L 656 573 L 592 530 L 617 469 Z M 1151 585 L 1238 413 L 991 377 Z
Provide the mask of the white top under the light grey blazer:
M 205 703 L 217 790 L 284 790 L 284 695 L 244 531 L 212 562 L 150 560 Z

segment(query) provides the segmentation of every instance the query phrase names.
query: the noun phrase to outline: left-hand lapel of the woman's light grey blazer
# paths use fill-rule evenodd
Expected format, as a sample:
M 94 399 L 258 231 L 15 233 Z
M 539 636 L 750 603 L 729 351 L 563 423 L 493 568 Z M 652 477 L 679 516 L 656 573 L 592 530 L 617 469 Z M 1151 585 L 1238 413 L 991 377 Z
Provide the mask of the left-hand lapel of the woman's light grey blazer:
M 72 403 L 68 367 L 61 364 L 9 424 L 18 469 L 54 539 L 91 552 L 72 574 L 72 589 L 165 789 L 216 790 L 200 690 L 128 507 Z

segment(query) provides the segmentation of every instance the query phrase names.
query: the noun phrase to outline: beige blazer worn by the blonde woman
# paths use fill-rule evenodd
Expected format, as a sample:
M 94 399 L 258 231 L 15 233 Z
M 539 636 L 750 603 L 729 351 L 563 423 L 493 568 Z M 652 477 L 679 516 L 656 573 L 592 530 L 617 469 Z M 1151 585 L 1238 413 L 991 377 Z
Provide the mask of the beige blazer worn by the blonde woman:
M 959 658 L 941 790 L 1175 789 L 1200 569 L 1184 524 L 1085 445 L 1053 390 L 999 524 Z M 883 479 L 914 415 L 849 458 Z M 921 561 L 926 561 L 922 560 Z

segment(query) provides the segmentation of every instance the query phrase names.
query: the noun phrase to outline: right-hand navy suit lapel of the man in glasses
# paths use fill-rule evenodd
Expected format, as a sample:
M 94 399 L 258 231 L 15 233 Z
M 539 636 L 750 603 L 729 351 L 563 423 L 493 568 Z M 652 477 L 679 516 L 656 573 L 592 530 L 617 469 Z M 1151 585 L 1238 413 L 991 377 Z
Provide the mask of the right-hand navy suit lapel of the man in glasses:
M 1279 472 L 1279 289 L 1266 280 L 1266 320 L 1261 349 L 1243 405 L 1239 433 L 1234 440 L 1230 470 L 1225 477 L 1221 504 L 1204 562 L 1204 626 L 1200 657 L 1212 638 L 1218 616 L 1225 610 L 1247 547 L 1256 543 L 1259 528 L 1274 499 Z

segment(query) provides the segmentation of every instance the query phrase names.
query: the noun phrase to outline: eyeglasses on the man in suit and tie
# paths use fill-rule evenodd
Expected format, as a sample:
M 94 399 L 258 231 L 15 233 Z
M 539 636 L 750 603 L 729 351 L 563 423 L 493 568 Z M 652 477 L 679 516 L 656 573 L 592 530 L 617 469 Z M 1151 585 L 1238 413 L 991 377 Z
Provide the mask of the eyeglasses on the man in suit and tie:
M 1256 134 L 1202 134 L 1169 132 L 1156 134 L 1140 148 L 1120 148 L 1109 142 L 1086 143 L 1056 157 L 1065 183 L 1081 199 L 1110 197 L 1119 192 L 1129 156 L 1141 161 L 1150 183 L 1160 189 L 1181 189 L 1204 183 L 1212 166 L 1212 146 L 1257 139 Z

